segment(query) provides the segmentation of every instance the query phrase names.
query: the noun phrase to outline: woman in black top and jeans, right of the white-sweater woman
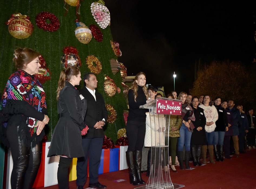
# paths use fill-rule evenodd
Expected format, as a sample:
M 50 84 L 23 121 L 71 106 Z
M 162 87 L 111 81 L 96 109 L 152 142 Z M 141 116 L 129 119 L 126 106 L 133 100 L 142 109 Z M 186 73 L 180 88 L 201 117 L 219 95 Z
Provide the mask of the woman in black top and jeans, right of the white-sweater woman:
M 228 117 L 227 112 L 221 107 L 221 98 L 216 97 L 214 106 L 218 111 L 218 120 L 215 122 L 216 128 L 214 130 L 214 155 L 216 161 L 224 161 L 223 157 L 223 143 L 225 132 L 228 131 Z

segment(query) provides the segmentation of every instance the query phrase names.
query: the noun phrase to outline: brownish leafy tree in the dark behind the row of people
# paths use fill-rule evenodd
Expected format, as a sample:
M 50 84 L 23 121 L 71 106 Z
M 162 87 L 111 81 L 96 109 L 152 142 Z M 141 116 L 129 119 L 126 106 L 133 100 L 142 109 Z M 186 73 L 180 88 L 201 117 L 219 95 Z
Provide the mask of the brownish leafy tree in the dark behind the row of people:
M 190 92 L 193 96 L 211 95 L 212 100 L 218 96 L 225 100 L 234 99 L 236 105 L 255 108 L 255 76 L 255 65 L 246 67 L 241 62 L 214 61 L 198 70 Z

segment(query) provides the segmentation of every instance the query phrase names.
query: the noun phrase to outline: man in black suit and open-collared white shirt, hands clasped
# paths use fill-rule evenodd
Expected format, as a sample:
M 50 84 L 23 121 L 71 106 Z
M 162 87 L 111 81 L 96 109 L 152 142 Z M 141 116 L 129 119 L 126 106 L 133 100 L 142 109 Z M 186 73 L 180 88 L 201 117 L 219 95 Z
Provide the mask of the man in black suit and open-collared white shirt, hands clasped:
M 87 162 L 89 158 L 89 187 L 90 188 L 107 188 L 98 181 L 98 172 L 100 156 L 104 139 L 103 126 L 106 123 L 108 112 L 105 102 L 97 88 L 96 76 L 89 72 L 84 75 L 85 87 L 79 90 L 79 93 L 87 100 L 87 112 L 84 123 L 89 130 L 86 135 L 82 136 L 82 145 L 84 157 L 77 158 L 77 189 L 83 189 L 87 180 Z

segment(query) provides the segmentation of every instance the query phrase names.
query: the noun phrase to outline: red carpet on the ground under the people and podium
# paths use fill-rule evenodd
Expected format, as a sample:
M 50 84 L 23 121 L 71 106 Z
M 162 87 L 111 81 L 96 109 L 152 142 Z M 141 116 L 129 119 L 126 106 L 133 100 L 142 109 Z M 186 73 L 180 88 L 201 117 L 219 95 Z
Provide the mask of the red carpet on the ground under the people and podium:
M 175 166 L 178 173 L 170 172 L 172 183 L 185 185 L 184 188 L 189 189 L 256 189 L 256 149 L 247 150 L 247 153 L 240 154 L 238 158 L 232 156 L 231 160 L 215 162 L 215 164 L 207 163 L 204 166 L 196 167 L 190 163 L 190 167 L 195 168 L 192 170 L 180 170 L 179 166 Z M 146 173 L 142 173 L 142 178 L 145 181 L 148 180 Z M 124 181 L 117 182 L 120 179 Z M 88 181 L 89 179 L 84 188 L 88 188 Z M 101 174 L 99 182 L 106 185 L 108 189 L 138 187 L 129 183 L 127 169 Z M 69 182 L 69 186 L 70 189 L 75 189 L 76 181 Z M 58 189 L 58 185 L 40 189 Z

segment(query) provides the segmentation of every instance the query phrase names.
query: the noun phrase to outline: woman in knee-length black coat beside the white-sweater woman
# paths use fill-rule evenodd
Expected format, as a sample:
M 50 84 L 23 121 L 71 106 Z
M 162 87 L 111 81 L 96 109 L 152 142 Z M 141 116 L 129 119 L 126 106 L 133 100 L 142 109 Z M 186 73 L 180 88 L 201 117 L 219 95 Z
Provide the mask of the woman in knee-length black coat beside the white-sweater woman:
M 206 118 L 204 116 L 204 109 L 198 107 L 199 99 L 197 96 L 192 97 L 192 108 L 194 110 L 195 121 L 192 121 L 195 128 L 190 139 L 191 155 L 193 158 L 193 165 L 201 166 L 200 161 L 202 145 L 207 145 L 207 138 L 205 134 Z

